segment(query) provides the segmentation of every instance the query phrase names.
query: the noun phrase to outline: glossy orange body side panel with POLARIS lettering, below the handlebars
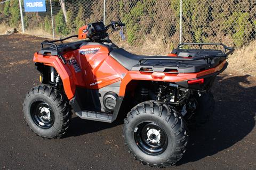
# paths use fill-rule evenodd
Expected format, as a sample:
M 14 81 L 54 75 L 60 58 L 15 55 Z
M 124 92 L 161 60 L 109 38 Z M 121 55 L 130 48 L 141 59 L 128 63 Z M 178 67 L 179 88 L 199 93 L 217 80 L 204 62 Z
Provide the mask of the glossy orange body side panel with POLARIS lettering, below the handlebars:
M 122 80 L 122 75 L 127 72 L 122 65 L 109 57 L 109 49 L 105 46 L 84 45 L 77 52 L 77 62 L 84 74 L 83 79 L 86 80 L 79 83 L 79 86 L 86 89 L 108 86 Z

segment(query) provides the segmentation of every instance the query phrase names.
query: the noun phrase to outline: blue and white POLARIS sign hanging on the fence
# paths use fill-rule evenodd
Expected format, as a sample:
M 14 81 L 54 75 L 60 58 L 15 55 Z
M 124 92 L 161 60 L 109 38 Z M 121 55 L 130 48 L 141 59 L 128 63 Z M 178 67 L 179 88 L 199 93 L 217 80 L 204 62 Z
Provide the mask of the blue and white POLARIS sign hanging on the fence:
M 24 0 L 25 12 L 46 12 L 45 0 Z

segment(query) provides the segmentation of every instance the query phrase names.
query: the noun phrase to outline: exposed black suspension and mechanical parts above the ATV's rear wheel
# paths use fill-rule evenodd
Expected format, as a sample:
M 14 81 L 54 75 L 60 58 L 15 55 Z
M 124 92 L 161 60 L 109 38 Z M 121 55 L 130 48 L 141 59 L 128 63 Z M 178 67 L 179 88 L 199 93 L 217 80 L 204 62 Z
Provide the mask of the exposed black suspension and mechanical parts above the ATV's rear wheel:
M 175 108 L 183 117 L 189 119 L 196 111 L 194 91 L 180 88 L 170 82 L 145 82 L 139 84 L 135 99 L 136 103 L 147 100 L 162 101 Z

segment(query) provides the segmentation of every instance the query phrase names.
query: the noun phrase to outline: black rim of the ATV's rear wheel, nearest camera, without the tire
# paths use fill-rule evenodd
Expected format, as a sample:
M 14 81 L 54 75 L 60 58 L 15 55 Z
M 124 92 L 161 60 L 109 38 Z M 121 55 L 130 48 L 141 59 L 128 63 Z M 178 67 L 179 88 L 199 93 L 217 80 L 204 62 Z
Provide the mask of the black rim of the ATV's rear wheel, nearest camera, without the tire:
M 160 155 L 168 145 L 166 132 L 154 122 L 138 124 L 134 129 L 134 140 L 140 150 L 148 155 Z

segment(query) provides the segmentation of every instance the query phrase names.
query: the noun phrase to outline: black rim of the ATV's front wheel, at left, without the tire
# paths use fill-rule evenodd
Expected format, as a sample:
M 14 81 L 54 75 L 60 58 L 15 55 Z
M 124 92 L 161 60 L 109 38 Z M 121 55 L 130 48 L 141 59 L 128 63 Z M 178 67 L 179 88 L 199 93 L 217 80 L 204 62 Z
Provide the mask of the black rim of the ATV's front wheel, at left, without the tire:
M 54 113 L 52 107 L 45 101 L 34 101 L 30 106 L 30 114 L 37 126 L 49 129 L 54 123 Z

